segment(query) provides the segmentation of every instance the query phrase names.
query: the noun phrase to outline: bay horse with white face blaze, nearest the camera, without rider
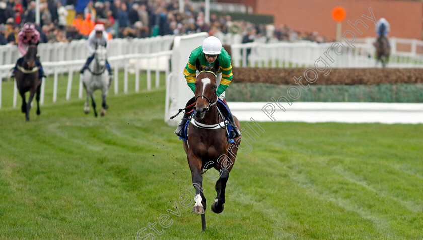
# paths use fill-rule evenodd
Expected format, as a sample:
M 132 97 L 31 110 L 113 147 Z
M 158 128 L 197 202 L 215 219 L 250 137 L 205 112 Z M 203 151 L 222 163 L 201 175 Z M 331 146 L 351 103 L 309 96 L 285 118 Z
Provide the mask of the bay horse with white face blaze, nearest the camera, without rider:
M 195 114 L 188 126 L 188 140 L 183 141 L 184 150 L 191 169 L 192 183 L 195 186 L 196 197 L 192 213 L 202 214 L 202 229 L 205 230 L 205 209 L 206 199 L 203 194 L 202 180 L 204 170 L 215 168 L 219 176 L 215 176 L 215 190 L 217 196 L 212 205 L 214 213 L 222 213 L 225 203 L 226 182 L 229 178 L 238 146 L 241 143 L 241 136 L 234 139 L 236 143 L 229 143 L 226 136 L 226 129 L 222 127 L 224 120 L 218 113 L 216 102 L 216 72 L 219 70 L 219 62 L 215 62 L 212 69 L 196 61 L 197 70 L 200 72 L 195 81 Z M 241 129 L 238 119 L 236 125 Z M 229 149 L 229 154 L 228 154 Z M 210 174 L 205 174 L 209 177 Z M 210 177 L 209 177 L 210 178 Z

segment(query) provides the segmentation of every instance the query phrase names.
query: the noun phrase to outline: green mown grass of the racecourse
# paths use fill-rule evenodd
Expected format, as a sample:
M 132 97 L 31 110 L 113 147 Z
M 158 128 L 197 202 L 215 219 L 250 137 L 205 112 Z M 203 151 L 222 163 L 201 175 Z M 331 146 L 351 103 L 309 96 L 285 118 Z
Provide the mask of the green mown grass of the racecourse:
M 76 97 L 32 110 L 30 122 L 0 109 L 0 239 L 136 239 L 144 227 L 140 239 L 423 237 L 423 126 L 337 123 L 260 123 L 265 132 L 231 171 L 223 214 L 210 212 L 216 192 L 204 179 L 205 233 L 177 203 L 180 216 L 168 213 L 159 236 L 148 223 L 191 185 L 164 123 L 163 86 L 111 94 L 103 118 Z

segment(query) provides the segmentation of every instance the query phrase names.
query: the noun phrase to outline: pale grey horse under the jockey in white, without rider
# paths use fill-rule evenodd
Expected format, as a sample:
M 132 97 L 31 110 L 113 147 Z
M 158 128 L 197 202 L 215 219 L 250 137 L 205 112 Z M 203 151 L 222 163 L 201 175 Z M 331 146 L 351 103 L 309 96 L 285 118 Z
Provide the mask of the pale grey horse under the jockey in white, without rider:
M 88 69 L 82 75 L 82 83 L 87 92 L 87 98 L 84 104 L 84 112 L 90 112 L 89 98 L 91 97 L 91 104 L 94 109 L 94 116 L 97 117 L 96 102 L 94 101 L 94 91 L 101 89 L 102 109 L 101 116 L 106 114 L 106 109 L 109 106 L 106 104 L 106 96 L 109 93 L 111 81 L 106 68 L 107 49 L 102 45 L 96 45 L 94 52 L 94 59 L 91 61 Z

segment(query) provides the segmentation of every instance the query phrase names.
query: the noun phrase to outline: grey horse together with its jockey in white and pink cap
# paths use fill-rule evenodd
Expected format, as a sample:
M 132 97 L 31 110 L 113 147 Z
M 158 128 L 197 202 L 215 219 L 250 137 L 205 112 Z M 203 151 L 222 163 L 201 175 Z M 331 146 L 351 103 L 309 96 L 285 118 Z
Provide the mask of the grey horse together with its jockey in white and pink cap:
M 88 50 L 90 57 L 87 59 L 81 69 L 82 83 L 87 93 L 84 104 L 84 112 L 89 113 L 89 99 L 94 110 L 94 116 L 97 117 L 96 102 L 94 101 L 94 91 L 101 90 L 102 109 L 101 116 L 106 114 L 109 106 L 106 103 L 106 97 L 112 82 L 112 70 L 107 62 L 107 33 L 102 24 L 97 24 L 88 37 Z

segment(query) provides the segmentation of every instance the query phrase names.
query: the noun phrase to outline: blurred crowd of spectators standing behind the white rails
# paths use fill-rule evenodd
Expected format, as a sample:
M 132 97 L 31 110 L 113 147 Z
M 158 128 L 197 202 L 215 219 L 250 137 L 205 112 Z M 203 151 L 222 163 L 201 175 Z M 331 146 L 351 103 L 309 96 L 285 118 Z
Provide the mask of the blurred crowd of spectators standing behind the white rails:
M 305 39 L 326 42 L 317 32 L 301 33 L 283 25 L 256 25 L 248 21 L 233 21 L 230 15 L 212 14 L 205 22 L 204 6 L 194 9 L 184 0 L 183 12 L 179 0 L 41 0 L 41 42 L 68 42 L 86 38 L 95 24 L 104 24 L 109 38 L 144 38 L 157 35 L 182 35 L 194 32 L 214 34 L 238 33 L 242 42 L 257 37 L 296 41 Z M 0 44 L 16 44 L 17 34 L 25 22 L 35 22 L 36 3 L 31 0 L 0 0 Z

